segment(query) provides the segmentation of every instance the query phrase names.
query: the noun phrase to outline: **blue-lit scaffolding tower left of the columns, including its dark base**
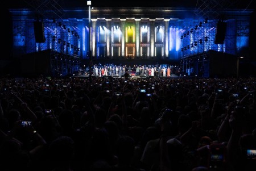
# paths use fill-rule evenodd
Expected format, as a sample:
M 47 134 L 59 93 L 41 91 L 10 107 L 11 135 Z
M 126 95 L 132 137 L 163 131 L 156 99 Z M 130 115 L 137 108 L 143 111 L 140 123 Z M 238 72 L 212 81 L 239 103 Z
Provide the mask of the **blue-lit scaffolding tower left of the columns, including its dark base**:
M 20 9 L 25 14 L 26 8 L 32 9 L 33 14 L 27 14 L 27 19 L 20 19 L 20 28 L 26 37 L 28 46 L 20 46 L 20 54 L 49 51 L 46 53 L 50 59 L 53 76 L 65 76 L 78 72 L 80 68 L 80 30 L 72 19 L 64 19 L 64 9 L 60 4 L 63 0 L 23 0 L 26 7 Z M 42 28 L 35 29 L 35 22 L 39 22 Z M 20 29 L 19 28 L 19 29 Z M 31 29 L 31 28 L 34 28 Z M 19 32 L 19 31 L 17 31 Z M 43 41 L 36 40 L 36 34 L 43 36 Z M 42 35 L 40 35 L 42 34 Z M 18 52 L 17 52 L 18 53 Z

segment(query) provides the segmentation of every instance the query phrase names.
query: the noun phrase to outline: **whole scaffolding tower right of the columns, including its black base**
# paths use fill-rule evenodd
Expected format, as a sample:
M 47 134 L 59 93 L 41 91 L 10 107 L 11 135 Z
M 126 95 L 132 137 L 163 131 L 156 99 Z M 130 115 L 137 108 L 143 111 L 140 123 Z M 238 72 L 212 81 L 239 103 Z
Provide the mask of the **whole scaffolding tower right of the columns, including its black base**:
M 238 1 L 229 0 L 200 0 L 195 8 L 195 23 L 192 27 L 186 27 L 181 34 L 181 60 L 180 65 L 184 75 L 209 77 L 209 60 L 210 50 L 222 51 L 230 54 L 239 53 L 242 45 L 241 34 L 245 34 L 243 31 L 239 31 L 239 28 L 243 30 L 243 27 L 247 27 L 242 20 L 236 20 L 238 28 L 238 34 L 235 31 L 226 32 L 231 30 L 228 27 L 235 27 L 234 24 L 226 24 L 232 7 L 237 6 Z M 226 12 L 228 11 L 228 12 Z M 220 24 L 219 24 L 220 23 Z M 225 25 L 221 25 L 225 24 Z M 220 26 L 228 26 L 221 28 Z M 225 42 L 234 44 L 234 46 L 225 46 L 225 43 L 216 43 L 217 31 L 222 31 L 222 38 L 225 38 Z M 224 37 L 223 37 L 224 36 Z M 236 46 L 235 46 L 236 45 Z M 249 48 L 249 47 L 248 47 Z M 196 68 L 193 68 L 193 66 Z M 193 68 L 193 72 L 191 72 Z M 189 73 L 188 73 L 189 72 Z

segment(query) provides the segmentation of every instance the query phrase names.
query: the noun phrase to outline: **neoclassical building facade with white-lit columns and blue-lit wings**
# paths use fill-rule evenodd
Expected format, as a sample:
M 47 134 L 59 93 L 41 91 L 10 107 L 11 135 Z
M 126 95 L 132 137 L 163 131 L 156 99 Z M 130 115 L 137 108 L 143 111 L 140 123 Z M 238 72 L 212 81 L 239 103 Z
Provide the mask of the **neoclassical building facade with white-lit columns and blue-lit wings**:
M 51 49 L 80 59 L 180 60 L 209 50 L 237 54 L 248 48 L 253 11 L 230 9 L 222 12 L 224 18 L 170 7 L 82 7 L 63 9 L 61 15 L 32 9 L 10 12 L 14 55 Z M 218 22 L 226 27 L 218 28 Z M 220 29 L 224 40 L 216 43 Z

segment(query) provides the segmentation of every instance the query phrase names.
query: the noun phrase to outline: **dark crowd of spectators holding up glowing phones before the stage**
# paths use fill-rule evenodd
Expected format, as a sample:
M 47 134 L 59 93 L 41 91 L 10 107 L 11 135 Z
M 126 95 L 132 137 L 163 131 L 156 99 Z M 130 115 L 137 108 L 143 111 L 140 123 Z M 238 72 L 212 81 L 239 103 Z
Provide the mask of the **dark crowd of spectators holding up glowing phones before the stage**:
M 1 78 L 0 170 L 255 170 L 255 78 Z

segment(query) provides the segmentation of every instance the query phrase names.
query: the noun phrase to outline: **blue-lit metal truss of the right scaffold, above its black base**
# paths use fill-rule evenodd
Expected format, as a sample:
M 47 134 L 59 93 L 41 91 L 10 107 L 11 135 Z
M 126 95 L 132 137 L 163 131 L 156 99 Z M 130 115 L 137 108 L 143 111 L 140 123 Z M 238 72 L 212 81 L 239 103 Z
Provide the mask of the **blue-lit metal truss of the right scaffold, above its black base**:
M 236 6 L 237 3 L 238 1 L 231 0 L 199 0 L 194 11 L 196 17 L 193 26 L 187 28 L 184 34 L 181 34 L 181 39 L 183 39 L 181 40 L 182 56 L 196 55 L 197 53 L 207 52 L 209 49 L 216 51 L 223 49 L 224 45 L 214 44 L 217 22 L 218 20 L 226 22 L 224 12 Z M 229 28 L 227 27 L 226 30 L 229 30 Z M 228 33 L 225 35 L 225 41 L 236 44 L 236 39 L 233 39 L 236 36 L 234 33 Z M 232 53 L 236 51 L 234 48 L 228 49 L 225 47 L 224 52 Z

